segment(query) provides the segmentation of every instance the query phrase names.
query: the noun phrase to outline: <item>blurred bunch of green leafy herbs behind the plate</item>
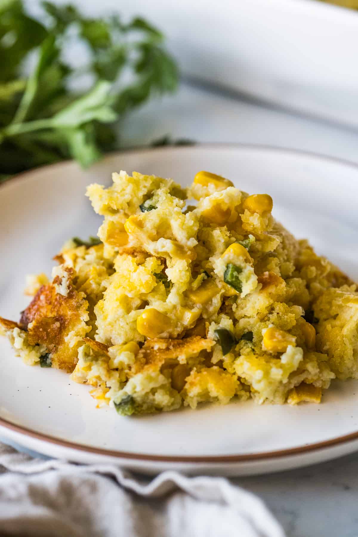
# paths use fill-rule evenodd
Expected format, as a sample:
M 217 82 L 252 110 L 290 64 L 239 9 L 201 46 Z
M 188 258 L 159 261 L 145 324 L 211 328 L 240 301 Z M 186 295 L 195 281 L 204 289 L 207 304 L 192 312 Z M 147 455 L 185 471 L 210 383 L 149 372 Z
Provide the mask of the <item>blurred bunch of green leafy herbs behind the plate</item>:
M 114 122 L 178 82 L 162 33 L 142 18 L 41 6 L 36 19 L 0 0 L 0 180 L 64 158 L 89 166 L 116 146 Z

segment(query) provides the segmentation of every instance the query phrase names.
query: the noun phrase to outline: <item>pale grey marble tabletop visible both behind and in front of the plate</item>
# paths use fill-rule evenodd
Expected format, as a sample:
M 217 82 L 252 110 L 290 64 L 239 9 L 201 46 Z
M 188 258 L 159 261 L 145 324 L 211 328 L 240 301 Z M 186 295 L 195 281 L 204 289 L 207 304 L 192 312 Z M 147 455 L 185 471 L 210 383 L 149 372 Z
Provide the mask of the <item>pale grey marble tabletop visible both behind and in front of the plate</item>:
M 165 134 L 196 142 L 257 143 L 313 151 L 358 163 L 358 132 L 252 101 L 183 84 L 123 121 L 125 146 Z M 288 537 L 358 536 L 358 454 L 235 483 L 265 500 Z

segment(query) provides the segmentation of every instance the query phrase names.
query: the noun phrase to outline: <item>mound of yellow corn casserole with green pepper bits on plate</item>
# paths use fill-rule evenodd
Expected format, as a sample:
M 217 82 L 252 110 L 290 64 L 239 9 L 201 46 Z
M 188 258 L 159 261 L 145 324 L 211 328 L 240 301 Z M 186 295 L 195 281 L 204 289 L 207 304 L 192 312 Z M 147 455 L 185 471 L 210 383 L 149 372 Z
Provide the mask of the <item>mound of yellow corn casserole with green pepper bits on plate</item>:
M 319 403 L 358 378 L 356 285 L 249 195 L 201 171 L 87 187 L 98 237 L 68 241 L 3 335 L 27 364 L 90 384 L 122 415 L 232 398 Z M 191 201 L 193 200 L 193 201 Z

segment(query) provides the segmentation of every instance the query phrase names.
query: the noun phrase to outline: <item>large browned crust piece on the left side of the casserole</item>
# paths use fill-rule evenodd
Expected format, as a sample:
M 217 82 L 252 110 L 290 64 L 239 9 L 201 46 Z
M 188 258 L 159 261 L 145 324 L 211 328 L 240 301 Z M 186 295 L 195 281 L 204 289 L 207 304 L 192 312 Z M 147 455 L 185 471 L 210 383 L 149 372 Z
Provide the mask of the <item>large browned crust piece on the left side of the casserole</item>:
M 66 270 L 71 278 L 73 269 Z M 71 373 L 78 360 L 77 349 L 81 342 L 70 346 L 65 338 L 83 324 L 88 302 L 78 294 L 70 279 L 68 294 L 63 296 L 57 293 L 54 284 L 60 283 L 61 278 L 56 276 L 52 284 L 43 285 L 39 289 L 23 311 L 19 326 L 28 331 L 30 345 L 39 343 L 46 346 L 52 354 L 53 367 Z

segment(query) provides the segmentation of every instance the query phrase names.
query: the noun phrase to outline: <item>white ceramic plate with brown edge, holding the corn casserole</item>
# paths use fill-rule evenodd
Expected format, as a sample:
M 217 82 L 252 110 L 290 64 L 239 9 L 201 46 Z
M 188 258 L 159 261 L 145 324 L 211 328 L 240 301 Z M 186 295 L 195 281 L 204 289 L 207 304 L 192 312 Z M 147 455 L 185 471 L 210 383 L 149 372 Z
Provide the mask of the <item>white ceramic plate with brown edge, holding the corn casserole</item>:
M 274 214 L 358 279 L 357 166 L 315 155 L 245 146 L 127 151 L 83 171 L 68 162 L 28 172 L 0 188 L 0 315 L 17 320 L 25 275 L 50 272 L 74 235 L 96 234 L 85 198 L 93 181 L 125 169 L 191 182 L 201 169 L 249 192 L 269 192 Z M 358 381 L 335 382 L 322 405 L 231 403 L 125 418 L 96 410 L 87 387 L 55 369 L 28 367 L 0 340 L 0 433 L 41 453 L 116 462 L 147 473 L 176 468 L 227 475 L 293 468 L 358 449 Z

